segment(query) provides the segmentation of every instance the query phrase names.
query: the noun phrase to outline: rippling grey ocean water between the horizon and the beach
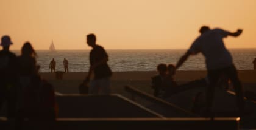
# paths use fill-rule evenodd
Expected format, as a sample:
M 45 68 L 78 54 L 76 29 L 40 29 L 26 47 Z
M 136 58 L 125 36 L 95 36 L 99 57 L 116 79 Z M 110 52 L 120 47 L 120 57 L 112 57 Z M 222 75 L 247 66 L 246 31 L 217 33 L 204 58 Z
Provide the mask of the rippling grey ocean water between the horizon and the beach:
M 176 64 L 187 49 L 109 49 L 108 64 L 114 72 L 152 71 L 160 63 Z M 229 49 L 233 62 L 239 70 L 253 69 L 252 61 L 256 58 L 256 49 Z M 20 55 L 20 51 L 13 51 Z M 57 71 L 64 71 L 63 59 L 69 61 L 69 72 L 88 72 L 90 50 L 37 50 L 37 64 L 40 72 L 50 72 L 49 63 L 55 59 Z M 202 54 L 190 56 L 179 70 L 205 70 Z

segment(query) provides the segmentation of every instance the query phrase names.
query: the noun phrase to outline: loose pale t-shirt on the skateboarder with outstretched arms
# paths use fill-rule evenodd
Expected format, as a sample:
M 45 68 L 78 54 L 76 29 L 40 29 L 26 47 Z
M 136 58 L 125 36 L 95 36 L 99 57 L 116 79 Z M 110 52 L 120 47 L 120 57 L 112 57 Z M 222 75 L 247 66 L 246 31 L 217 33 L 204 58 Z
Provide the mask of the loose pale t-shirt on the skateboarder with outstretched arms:
M 233 64 L 232 56 L 226 49 L 223 38 L 229 32 L 222 29 L 212 29 L 199 36 L 191 45 L 189 51 L 205 56 L 207 69 L 221 69 Z

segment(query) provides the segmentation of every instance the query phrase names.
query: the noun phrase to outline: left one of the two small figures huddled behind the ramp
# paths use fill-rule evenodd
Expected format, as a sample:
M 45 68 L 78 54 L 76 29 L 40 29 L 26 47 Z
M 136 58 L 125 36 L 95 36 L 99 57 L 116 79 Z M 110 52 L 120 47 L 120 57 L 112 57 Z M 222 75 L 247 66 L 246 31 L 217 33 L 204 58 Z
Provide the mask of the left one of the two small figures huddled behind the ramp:
M 163 80 L 166 77 L 167 66 L 166 64 L 158 64 L 158 75 L 151 78 L 152 88 L 154 89 L 154 96 L 158 97 L 160 92 L 163 91 Z

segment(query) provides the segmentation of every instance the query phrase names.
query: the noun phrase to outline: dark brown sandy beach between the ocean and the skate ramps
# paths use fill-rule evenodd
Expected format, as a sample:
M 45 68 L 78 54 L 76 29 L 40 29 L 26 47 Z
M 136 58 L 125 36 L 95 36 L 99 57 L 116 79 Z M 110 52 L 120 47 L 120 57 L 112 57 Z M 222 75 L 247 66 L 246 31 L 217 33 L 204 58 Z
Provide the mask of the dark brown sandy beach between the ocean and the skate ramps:
M 64 73 L 63 79 L 55 78 L 54 73 L 40 73 L 41 77 L 48 80 L 55 88 L 56 92 L 63 94 L 78 93 L 78 86 L 82 83 L 86 72 L 70 72 Z M 112 93 L 126 95 L 124 86 L 137 87 L 149 94 L 152 94 L 151 77 L 157 75 L 156 71 L 151 72 L 113 72 L 111 78 Z M 204 78 L 206 72 L 204 70 L 191 71 L 177 71 L 175 80 L 178 84 L 186 83 L 188 81 Z M 256 70 L 238 70 L 238 76 L 243 83 L 245 91 L 252 91 L 256 93 Z

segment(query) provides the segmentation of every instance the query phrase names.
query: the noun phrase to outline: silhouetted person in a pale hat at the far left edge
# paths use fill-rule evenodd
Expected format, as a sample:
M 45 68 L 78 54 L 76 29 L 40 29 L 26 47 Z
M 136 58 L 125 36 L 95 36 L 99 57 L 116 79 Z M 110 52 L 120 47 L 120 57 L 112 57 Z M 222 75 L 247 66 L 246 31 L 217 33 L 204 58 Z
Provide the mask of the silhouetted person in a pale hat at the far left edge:
M 2 104 L 7 102 L 7 119 L 15 117 L 16 111 L 16 86 L 17 76 L 17 58 L 10 52 L 10 45 L 13 44 L 10 36 L 2 36 L 0 51 L 0 110 Z

